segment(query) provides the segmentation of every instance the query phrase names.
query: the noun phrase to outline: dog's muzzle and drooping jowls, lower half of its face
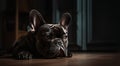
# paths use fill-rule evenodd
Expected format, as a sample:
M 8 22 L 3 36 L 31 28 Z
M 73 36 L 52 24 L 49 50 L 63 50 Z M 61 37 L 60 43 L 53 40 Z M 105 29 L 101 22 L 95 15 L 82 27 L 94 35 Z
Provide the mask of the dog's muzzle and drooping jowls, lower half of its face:
M 52 39 L 51 41 L 38 41 L 36 44 L 40 55 L 45 58 L 53 58 L 60 54 L 61 50 L 65 53 L 65 46 L 60 38 Z

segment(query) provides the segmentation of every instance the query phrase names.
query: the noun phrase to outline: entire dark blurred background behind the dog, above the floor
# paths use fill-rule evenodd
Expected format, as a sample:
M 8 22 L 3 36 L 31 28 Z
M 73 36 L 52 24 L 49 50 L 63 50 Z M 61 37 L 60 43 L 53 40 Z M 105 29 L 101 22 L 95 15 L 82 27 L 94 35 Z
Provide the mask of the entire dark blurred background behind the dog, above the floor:
M 119 51 L 120 5 L 116 0 L 0 0 L 0 50 L 26 34 L 29 11 L 38 10 L 47 23 L 69 12 L 72 51 Z

